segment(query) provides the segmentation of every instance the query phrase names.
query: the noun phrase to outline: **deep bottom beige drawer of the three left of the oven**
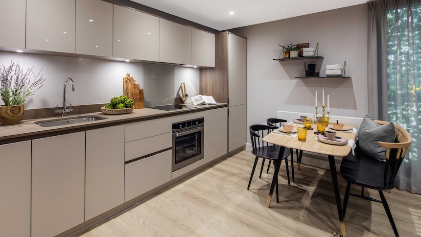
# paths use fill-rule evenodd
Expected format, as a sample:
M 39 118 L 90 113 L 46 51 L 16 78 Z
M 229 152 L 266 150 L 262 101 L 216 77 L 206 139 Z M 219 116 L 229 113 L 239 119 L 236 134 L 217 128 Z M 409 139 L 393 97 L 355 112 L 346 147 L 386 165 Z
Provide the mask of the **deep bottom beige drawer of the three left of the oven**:
M 171 181 L 171 150 L 125 165 L 124 201 Z

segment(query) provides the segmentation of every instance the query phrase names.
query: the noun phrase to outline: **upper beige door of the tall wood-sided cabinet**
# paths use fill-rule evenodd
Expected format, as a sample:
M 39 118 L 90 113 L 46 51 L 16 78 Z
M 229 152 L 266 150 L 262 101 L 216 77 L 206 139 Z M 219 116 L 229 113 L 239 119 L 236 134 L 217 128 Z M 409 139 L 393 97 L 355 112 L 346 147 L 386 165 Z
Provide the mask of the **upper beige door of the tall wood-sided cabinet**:
M 247 39 L 228 34 L 229 105 L 247 103 Z

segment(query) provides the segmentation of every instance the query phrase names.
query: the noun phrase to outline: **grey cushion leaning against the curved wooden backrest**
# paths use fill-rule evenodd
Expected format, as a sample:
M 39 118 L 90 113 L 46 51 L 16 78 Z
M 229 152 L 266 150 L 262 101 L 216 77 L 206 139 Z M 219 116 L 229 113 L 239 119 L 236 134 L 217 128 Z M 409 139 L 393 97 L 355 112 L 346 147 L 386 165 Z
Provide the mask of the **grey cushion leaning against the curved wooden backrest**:
M 374 159 L 386 160 L 386 148 L 377 142 L 393 142 L 396 137 L 395 126 L 392 122 L 379 125 L 370 115 L 366 115 L 358 131 L 360 149 Z

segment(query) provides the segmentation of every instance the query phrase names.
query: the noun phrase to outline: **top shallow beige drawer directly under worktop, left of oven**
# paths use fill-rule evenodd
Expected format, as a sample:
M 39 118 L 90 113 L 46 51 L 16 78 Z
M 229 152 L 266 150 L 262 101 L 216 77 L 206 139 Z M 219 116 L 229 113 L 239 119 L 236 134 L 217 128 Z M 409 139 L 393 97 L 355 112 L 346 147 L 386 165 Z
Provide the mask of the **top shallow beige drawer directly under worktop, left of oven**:
M 171 132 L 171 117 L 126 124 L 126 142 Z

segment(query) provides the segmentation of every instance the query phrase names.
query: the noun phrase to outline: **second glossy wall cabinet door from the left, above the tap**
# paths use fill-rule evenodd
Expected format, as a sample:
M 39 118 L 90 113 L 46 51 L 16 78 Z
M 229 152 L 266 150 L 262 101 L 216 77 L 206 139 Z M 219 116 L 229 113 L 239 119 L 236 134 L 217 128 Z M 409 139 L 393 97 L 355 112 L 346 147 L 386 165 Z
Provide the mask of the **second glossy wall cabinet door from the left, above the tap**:
M 75 0 L 27 0 L 26 48 L 74 53 Z

